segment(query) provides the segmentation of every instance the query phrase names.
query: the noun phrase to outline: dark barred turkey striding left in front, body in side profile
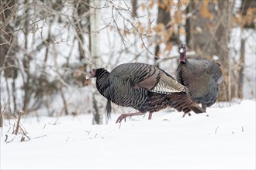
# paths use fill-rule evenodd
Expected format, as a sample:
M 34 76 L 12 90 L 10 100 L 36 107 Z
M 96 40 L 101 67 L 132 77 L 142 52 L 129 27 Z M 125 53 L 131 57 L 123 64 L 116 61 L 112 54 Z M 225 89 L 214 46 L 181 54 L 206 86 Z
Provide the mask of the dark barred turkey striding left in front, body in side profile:
M 178 111 L 196 114 L 205 112 L 191 100 L 186 93 L 188 90 L 178 83 L 171 75 L 155 66 L 146 63 L 124 63 L 116 66 L 111 73 L 104 68 L 94 69 L 88 77 L 96 77 L 96 87 L 102 96 L 106 97 L 107 117 L 110 117 L 111 102 L 123 107 L 133 107 L 140 112 L 122 114 L 116 120 L 133 115 L 142 115 L 173 107 Z

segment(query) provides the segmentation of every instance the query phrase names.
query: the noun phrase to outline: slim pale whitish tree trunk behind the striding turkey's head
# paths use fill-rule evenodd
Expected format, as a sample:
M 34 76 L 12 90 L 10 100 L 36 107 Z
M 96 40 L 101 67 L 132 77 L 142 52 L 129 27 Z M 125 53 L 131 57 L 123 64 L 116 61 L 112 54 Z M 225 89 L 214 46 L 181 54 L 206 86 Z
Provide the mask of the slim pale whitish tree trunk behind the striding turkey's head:
M 99 20 L 100 20 L 100 11 L 97 7 L 100 7 L 100 1 L 90 1 L 92 5 L 92 15 L 90 15 L 90 52 L 91 56 L 94 59 L 96 66 L 102 65 L 100 46 L 99 46 Z M 104 101 L 102 95 L 95 91 L 93 93 L 93 105 L 95 108 L 95 113 L 93 117 L 93 124 L 103 124 L 103 113 L 105 113 L 104 106 L 102 101 Z

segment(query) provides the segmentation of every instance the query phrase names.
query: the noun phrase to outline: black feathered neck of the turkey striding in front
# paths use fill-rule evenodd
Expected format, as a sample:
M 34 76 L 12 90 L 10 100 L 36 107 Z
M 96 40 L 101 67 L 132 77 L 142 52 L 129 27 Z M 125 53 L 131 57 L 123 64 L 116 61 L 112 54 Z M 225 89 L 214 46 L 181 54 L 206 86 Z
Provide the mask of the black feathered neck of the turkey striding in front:
M 108 82 L 109 72 L 106 69 L 98 69 L 96 72 L 96 87 L 99 90 L 99 93 L 103 95 Z

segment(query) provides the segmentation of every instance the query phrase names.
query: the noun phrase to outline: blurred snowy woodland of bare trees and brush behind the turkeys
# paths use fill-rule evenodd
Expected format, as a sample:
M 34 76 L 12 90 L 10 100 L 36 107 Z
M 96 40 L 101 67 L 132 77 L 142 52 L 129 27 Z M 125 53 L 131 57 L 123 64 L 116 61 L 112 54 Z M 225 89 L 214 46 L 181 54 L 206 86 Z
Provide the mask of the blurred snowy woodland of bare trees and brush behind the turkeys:
M 175 76 L 180 44 L 221 63 L 219 102 L 255 99 L 255 15 L 253 0 L 0 0 L 0 127 L 18 113 L 102 124 L 86 73 L 144 62 Z

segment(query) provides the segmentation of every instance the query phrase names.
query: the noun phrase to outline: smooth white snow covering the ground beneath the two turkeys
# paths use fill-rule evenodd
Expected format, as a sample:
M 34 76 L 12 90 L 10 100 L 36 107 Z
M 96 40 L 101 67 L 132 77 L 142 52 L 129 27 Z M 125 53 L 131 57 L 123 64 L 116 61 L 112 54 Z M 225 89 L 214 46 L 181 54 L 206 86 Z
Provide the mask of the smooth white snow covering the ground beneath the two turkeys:
M 255 169 L 255 100 L 210 107 L 206 114 L 162 110 L 92 125 L 92 114 L 5 119 L 1 169 Z M 6 135 L 8 136 L 7 140 Z

